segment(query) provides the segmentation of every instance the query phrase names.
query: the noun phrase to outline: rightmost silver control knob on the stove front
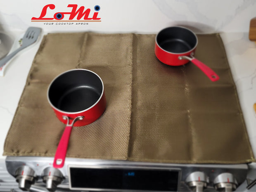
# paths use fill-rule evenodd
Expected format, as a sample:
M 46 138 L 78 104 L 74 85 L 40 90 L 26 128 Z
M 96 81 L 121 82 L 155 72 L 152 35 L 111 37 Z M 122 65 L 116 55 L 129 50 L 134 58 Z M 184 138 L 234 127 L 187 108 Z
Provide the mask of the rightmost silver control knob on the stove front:
M 233 191 L 237 188 L 237 181 L 231 173 L 221 173 L 214 179 L 213 183 L 218 191 Z

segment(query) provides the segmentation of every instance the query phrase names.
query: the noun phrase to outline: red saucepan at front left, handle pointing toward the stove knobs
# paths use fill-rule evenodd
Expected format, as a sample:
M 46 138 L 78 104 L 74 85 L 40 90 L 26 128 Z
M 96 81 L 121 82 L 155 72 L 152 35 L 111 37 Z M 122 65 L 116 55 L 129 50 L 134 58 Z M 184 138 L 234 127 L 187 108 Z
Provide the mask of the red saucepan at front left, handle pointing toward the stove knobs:
M 62 168 L 73 126 L 88 125 L 104 112 L 104 85 L 96 73 L 73 69 L 60 74 L 50 83 L 47 97 L 57 118 L 66 124 L 53 162 L 54 168 Z

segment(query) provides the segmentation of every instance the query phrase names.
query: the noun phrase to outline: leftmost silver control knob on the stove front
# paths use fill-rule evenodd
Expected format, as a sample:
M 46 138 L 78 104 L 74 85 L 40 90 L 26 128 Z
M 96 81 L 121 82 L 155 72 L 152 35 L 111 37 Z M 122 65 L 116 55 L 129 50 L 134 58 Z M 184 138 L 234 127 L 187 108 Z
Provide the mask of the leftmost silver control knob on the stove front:
M 28 166 L 20 166 L 17 168 L 14 177 L 19 183 L 19 188 L 24 191 L 29 191 L 31 185 L 37 180 L 35 171 Z

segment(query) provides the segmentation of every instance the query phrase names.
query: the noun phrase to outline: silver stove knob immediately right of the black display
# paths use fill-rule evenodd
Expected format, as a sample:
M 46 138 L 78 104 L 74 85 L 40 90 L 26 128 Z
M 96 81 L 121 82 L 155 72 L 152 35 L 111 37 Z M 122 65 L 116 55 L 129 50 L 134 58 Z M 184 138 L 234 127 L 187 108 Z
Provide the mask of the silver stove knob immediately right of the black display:
M 196 171 L 188 175 L 186 183 L 193 191 L 204 191 L 209 183 L 209 178 L 204 172 Z

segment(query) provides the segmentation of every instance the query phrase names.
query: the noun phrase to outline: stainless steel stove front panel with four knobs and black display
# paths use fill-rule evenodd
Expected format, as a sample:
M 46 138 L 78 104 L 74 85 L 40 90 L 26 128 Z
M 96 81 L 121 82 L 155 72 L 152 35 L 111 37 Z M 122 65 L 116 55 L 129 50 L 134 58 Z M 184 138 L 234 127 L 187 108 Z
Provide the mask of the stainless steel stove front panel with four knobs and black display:
M 244 191 L 247 164 L 165 164 L 122 160 L 7 156 L 7 171 L 32 191 Z M 253 177 L 253 176 L 252 176 Z M 241 186 L 243 188 L 241 189 Z M 240 188 L 239 188 L 240 187 Z

